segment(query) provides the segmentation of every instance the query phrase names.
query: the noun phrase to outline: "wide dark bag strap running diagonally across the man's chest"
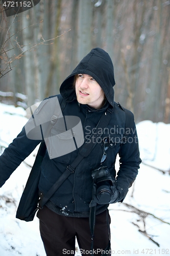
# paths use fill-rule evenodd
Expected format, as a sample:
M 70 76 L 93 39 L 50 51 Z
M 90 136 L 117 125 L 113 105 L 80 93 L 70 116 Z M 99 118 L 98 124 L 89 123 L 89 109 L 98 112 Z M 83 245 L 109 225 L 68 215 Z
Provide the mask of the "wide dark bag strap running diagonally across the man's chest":
M 110 122 L 111 114 L 113 112 L 113 108 L 108 108 L 105 113 L 103 113 L 101 119 L 99 120 L 98 124 L 96 125 L 95 129 L 93 129 L 93 132 L 91 133 L 90 138 L 93 139 L 90 142 L 85 142 L 83 146 L 80 149 L 79 155 L 76 157 L 76 159 L 67 166 L 64 173 L 60 176 L 60 178 L 54 183 L 54 185 L 50 188 L 50 190 L 47 191 L 45 195 L 40 195 L 40 200 L 38 203 L 38 208 L 42 209 L 43 205 L 53 196 L 55 191 L 61 186 L 61 184 L 68 178 L 68 176 L 75 172 L 75 168 L 77 165 L 82 161 L 84 157 L 87 157 L 90 152 L 93 150 L 94 146 L 98 142 L 98 138 L 102 136 L 102 133 L 98 133 L 98 130 L 101 132 L 104 132 L 104 129 L 107 127 L 107 125 Z M 100 134 L 100 136 L 99 136 Z

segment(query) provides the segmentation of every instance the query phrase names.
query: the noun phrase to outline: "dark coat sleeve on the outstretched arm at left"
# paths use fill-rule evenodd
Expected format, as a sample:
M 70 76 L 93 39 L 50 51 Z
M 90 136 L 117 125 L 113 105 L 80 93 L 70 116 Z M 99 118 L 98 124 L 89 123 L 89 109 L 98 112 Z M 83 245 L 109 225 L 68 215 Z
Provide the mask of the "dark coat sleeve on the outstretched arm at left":
M 53 125 L 51 117 L 54 109 L 58 116 L 62 113 L 58 98 L 54 96 L 44 99 L 22 131 L 0 156 L 0 187 L 35 147 L 48 137 L 48 132 Z

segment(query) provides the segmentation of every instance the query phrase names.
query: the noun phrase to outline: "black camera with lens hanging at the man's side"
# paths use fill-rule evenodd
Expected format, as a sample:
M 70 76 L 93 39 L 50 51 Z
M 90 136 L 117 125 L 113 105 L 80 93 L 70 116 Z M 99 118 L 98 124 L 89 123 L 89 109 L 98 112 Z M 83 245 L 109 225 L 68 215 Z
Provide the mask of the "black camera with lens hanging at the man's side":
M 93 185 L 96 187 L 96 198 L 101 204 L 111 201 L 113 191 L 111 186 L 115 183 L 107 166 L 102 166 L 92 171 Z

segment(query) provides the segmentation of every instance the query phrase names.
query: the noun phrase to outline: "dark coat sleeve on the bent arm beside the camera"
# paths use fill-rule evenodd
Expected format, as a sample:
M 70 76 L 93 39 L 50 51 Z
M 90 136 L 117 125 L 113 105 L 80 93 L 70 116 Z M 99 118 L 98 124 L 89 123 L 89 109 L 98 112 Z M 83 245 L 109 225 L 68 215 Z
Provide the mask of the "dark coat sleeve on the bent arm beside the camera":
M 119 150 L 119 170 L 117 173 L 117 186 L 123 191 L 125 199 L 129 187 L 132 186 L 138 174 L 141 159 L 139 157 L 138 138 L 135 123 L 133 129 L 129 131 L 127 142 L 120 146 Z M 123 200 L 121 202 L 123 202 Z

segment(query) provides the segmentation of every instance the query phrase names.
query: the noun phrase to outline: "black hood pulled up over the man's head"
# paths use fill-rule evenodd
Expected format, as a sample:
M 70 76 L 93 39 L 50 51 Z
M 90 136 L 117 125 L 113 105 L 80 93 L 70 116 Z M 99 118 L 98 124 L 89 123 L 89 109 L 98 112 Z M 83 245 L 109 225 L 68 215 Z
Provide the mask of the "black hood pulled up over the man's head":
M 112 60 L 107 52 L 101 48 L 92 49 L 63 81 L 60 94 L 67 102 L 76 99 L 76 92 L 72 87 L 76 74 L 92 76 L 102 87 L 109 103 L 114 104 L 114 70 Z

